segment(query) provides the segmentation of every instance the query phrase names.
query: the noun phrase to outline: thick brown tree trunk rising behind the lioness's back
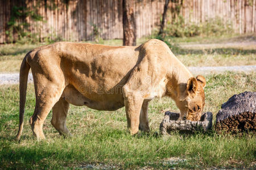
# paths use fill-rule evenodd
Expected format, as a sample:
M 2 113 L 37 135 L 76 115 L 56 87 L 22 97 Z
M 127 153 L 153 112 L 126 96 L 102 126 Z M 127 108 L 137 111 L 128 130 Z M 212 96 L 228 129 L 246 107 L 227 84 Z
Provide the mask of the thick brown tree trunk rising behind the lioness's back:
M 123 0 L 123 45 L 136 45 L 134 0 Z

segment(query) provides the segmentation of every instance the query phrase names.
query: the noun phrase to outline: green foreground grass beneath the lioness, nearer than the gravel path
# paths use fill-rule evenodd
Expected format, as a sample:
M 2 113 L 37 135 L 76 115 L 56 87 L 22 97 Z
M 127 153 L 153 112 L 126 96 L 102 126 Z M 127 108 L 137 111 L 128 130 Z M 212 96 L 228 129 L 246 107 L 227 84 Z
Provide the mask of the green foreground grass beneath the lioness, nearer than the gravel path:
M 234 94 L 256 91 L 256 73 L 224 73 L 208 75 L 205 87 L 205 109 L 214 117 L 222 103 Z M 44 124 L 46 141 L 32 137 L 28 119 L 34 111 L 34 87 L 27 91 L 24 131 L 21 141 L 13 138 L 18 131 L 18 85 L 0 86 L 0 169 L 74 168 L 86 164 L 115 165 L 118 168 L 155 169 L 251 167 L 256 161 L 256 136 L 207 134 L 157 137 L 164 111 L 177 111 L 171 99 L 164 97 L 150 102 L 149 119 L 152 133 L 131 136 L 126 131 L 124 108 L 118 111 L 96 111 L 71 106 L 67 127 L 72 138 L 62 138 L 50 124 L 49 113 Z M 175 157 L 185 159 L 177 164 L 164 163 Z M 253 168 L 253 167 L 251 167 Z

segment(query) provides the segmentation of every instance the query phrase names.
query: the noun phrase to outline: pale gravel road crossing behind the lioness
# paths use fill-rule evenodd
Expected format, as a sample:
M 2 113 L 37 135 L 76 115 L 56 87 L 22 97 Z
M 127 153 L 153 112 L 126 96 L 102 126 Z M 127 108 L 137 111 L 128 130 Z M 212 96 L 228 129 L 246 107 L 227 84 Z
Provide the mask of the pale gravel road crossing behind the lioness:
M 220 66 L 220 67 L 188 67 L 193 75 L 197 74 L 212 74 L 222 73 L 224 71 L 236 71 L 236 72 L 250 72 L 256 71 L 256 65 L 253 66 Z M 28 75 L 28 82 L 32 82 L 33 77 L 30 73 Z M 2 84 L 18 84 L 19 73 L 0 73 L 0 85 Z

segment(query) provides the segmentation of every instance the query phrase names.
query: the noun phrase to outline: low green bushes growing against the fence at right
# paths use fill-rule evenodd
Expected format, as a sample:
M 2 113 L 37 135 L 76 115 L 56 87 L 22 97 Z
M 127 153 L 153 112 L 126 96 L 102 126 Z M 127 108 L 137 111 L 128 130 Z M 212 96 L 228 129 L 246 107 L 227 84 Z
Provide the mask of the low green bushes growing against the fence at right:
M 173 23 L 168 23 L 164 34 L 174 37 L 220 36 L 233 33 L 231 23 L 224 23 L 220 18 L 209 19 L 203 23 L 185 23 L 183 16 L 178 16 Z

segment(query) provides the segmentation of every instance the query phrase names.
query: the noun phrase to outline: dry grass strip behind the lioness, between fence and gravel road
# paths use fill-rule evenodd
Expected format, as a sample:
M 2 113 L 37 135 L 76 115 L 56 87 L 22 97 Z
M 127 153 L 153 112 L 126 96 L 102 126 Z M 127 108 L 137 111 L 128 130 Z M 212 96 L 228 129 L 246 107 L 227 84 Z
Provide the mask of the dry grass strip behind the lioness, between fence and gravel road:
M 217 39 L 219 38 L 219 39 Z M 143 37 L 137 40 L 137 44 L 142 44 L 150 37 Z M 256 36 L 235 36 L 235 37 L 190 37 L 175 38 L 166 37 L 166 41 L 181 44 L 178 49 L 172 49 L 176 56 L 185 64 L 185 66 L 235 66 L 235 65 L 256 65 L 256 46 L 255 44 L 238 46 L 239 44 L 224 46 L 228 42 L 255 41 Z M 190 42 L 184 45 L 184 41 Z M 215 46 L 200 45 L 200 43 L 222 42 Z M 93 41 L 87 41 L 95 43 Z M 196 43 L 196 44 L 195 44 Z M 199 43 L 199 45 L 197 45 Z M 122 40 L 102 40 L 105 45 L 122 45 Z M 5 44 L 0 45 L 0 73 L 19 72 L 19 67 L 23 57 L 31 49 L 42 44 Z M 190 45 L 190 46 L 189 46 Z M 192 45 L 192 46 L 191 46 Z M 221 46 L 222 45 L 222 46 Z M 185 46 L 183 48 L 183 46 Z

